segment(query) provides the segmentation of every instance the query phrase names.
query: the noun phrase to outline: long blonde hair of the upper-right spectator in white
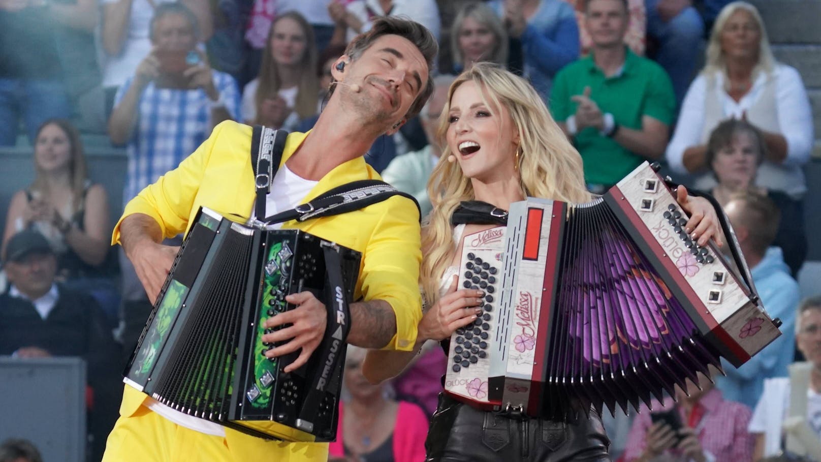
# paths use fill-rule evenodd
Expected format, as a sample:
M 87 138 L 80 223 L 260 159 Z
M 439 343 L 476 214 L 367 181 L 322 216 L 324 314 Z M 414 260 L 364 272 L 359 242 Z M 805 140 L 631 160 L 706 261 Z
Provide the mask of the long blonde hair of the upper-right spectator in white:
M 716 17 L 713 31 L 710 33 L 709 44 L 707 44 L 707 58 L 702 71 L 704 76 L 714 77 L 718 72 L 727 72 L 727 62 L 724 61 L 724 52 L 721 49 L 721 35 L 730 16 L 740 10 L 750 13 L 750 16 L 753 16 L 754 21 L 759 25 L 759 62 L 753 68 L 752 80 L 755 81 L 759 72 L 770 73 L 775 69 L 776 61 L 773 57 L 773 50 L 770 49 L 767 30 L 764 28 L 764 20 L 761 19 L 759 10 L 748 2 L 732 2 L 727 3 L 727 6 L 723 7 L 722 11 L 718 13 L 718 17 Z

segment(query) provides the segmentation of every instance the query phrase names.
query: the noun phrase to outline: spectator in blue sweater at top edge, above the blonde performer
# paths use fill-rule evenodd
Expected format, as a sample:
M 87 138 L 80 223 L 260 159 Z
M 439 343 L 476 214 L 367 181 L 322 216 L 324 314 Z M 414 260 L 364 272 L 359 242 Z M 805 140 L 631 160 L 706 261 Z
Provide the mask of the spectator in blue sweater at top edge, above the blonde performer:
M 492 0 L 488 3 L 507 26 L 511 40 L 521 40 L 524 75 L 545 101 L 553 76 L 579 58 L 576 13 L 562 0 Z

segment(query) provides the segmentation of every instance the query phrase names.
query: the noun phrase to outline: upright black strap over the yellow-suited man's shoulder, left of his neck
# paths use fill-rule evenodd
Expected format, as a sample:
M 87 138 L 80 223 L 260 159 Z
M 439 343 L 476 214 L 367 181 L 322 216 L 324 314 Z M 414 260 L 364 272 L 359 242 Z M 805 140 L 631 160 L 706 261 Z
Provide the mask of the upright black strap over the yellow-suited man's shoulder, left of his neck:
M 254 169 L 256 201 L 254 215 L 265 216 L 265 196 L 271 192 L 273 175 L 282 162 L 282 151 L 288 132 L 257 125 L 251 134 L 251 168 Z

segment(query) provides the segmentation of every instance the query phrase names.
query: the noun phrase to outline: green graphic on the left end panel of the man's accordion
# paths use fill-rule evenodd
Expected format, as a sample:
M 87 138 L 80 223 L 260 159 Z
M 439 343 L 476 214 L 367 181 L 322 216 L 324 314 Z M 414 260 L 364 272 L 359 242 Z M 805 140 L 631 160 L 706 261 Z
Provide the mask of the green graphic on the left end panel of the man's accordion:
M 160 349 L 167 339 L 168 332 L 175 319 L 177 319 L 177 312 L 182 307 L 182 301 L 185 300 L 188 293 L 188 288 L 177 280 L 171 280 L 168 284 L 168 289 L 163 297 L 163 302 L 157 311 L 157 316 L 154 317 L 151 330 L 143 340 L 144 347 L 140 349 L 140 354 L 135 358 L 134 363 L 138 365 L 136 372 L 131 377 L 132 380 L 144 382 L 154 368 L 154 363 L 157 362 Z

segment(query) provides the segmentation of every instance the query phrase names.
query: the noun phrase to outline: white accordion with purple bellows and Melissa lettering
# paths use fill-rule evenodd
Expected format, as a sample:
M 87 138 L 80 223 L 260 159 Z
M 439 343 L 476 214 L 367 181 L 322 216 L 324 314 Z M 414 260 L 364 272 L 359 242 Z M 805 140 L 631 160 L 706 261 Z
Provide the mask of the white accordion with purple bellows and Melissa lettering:
M 564 418 L 650 406 L 721 357 L 745 363 L 778 323 L 745 263 L 699 247 L 686 220 L 645 163 L 594 201 L 528 198 L 511 205 L 507 228 L 466 236 L 459 284 L 484 289 L 484 314 L 452 335 L 447 393 Z

